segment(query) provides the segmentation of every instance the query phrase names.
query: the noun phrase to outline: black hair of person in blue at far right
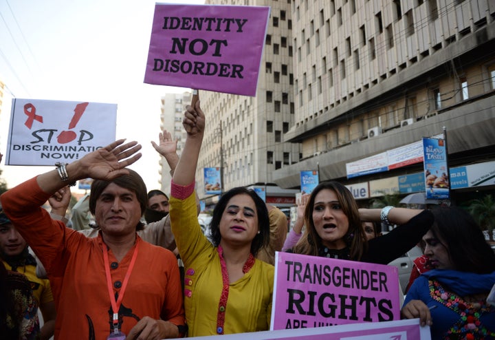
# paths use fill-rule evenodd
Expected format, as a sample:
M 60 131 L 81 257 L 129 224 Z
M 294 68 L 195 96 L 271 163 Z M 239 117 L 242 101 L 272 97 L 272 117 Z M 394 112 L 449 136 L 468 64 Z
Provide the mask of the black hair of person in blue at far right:
M 495 270 L 495 253 L 469 213 L 454 206 L 441 206 L 432 213 L 435 220 L 430 231 L 445 242 L 455 270 L 478 274 Z

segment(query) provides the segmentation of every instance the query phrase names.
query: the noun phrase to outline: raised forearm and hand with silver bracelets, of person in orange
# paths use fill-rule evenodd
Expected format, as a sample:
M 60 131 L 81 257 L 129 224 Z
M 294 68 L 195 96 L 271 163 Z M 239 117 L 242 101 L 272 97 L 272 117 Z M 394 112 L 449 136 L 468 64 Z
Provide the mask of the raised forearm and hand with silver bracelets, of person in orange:
M 126 174 L 125 167 L 141 158 L 141 145 L 137 142 L 124 144 L 124 139 L 116 140 L 107 147 L 87 153 L 60 169 L 54 169 L 39 175 L 36 180 L 45 193 L 55 193 L 67 184 L 83 178 L 96 180 L 112 180 Z

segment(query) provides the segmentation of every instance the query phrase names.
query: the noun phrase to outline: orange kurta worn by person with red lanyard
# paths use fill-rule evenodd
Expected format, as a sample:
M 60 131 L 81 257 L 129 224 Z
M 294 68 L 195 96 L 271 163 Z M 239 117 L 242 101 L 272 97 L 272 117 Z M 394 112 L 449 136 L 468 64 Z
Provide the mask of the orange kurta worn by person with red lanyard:
M 36 178 L 1 195 L 3 211 L 32 247 L 47 270 L 57 309 L 56 339 L 107 339 L 112 319 L 101 234 L 95 238 L 52 220 L 41 205 L 50 197 Z M 127 284 L 119 317 L 122 332 L 142 317 L 184 325 L 177 259 L 172 252 L 140 242 L 132 275 Z M 121 289 L 134 248 L 117 264 L 109 253 L 114 293 Z

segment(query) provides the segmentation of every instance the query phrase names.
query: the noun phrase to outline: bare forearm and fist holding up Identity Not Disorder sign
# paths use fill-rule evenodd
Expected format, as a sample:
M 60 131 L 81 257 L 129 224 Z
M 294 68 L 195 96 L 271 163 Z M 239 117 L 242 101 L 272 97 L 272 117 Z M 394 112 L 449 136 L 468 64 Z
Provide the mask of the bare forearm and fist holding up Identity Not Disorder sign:
M 184 150 L 173 174 L 173 182 L 186 186 L 195 181 L 199 150 L 201 149 L 201 142 L 203 142 L 205 116 L 199 100 L 195 103 L 195 107 L 190 105 L 186 107 L 182 125 L 186 129 L 187 137 Z

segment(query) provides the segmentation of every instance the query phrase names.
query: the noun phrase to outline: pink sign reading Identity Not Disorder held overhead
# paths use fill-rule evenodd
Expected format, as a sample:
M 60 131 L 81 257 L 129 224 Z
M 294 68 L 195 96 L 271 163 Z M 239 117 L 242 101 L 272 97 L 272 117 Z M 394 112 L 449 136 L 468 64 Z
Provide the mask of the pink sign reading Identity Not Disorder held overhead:
M 144 83 L 256 95 L 269 7 L 157 3 Z

